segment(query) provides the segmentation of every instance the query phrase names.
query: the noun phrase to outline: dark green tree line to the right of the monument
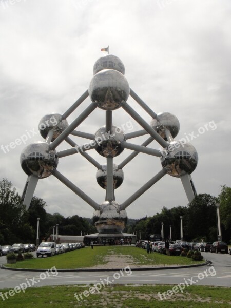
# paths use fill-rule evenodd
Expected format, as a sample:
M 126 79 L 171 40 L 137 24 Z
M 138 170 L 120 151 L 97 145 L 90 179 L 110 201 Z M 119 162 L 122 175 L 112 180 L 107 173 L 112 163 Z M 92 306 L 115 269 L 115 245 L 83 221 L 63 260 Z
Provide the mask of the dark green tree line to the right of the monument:
M 197 195 L 186 206 L 177 206 L 168 209 L 163 207 L 160 213 L 151 217 L 144 217 L 126 228 L 128 233 L 137 233 L 138 239 L 150 239 L 151 234 L 161 234 L 162 222 L 164 223 L 164 238 L 171 237 L 180 240 L 180 216 L 183 217 L 183 239 L 186 241 L 200 242 L 217 241 L 217 208 L 220 204 L 220 221 L 222 240 L 231 243 L 231 188 L 221 186 L 218 197 L 208 194 Z

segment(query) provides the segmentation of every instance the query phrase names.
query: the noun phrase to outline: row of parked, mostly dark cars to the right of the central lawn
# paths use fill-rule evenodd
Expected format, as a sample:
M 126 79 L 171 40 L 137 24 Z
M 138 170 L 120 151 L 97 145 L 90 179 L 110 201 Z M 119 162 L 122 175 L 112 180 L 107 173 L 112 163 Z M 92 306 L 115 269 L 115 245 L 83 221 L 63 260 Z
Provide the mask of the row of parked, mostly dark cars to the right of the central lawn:
M 138 247 L 147 249 L 148 241 L 141 241 Z M 166 254 L 165 243 L 164 242 L 150 242 L 150 248 L 152 247 L 153 252 Z M 211 252 L 211 253 L 229 253 L 231 255 L 231 248 L 228 249 L 228 246 L 225 242 L 216 241 L 216 242 L 206 242 L 206 243 L 193 243 L 193 242 L 183 242 L 177 240 L 175 242 L 169 241 L 169 255 L 180 255 L 181 252 L 187 249 L 201 251 L 201 252 Z

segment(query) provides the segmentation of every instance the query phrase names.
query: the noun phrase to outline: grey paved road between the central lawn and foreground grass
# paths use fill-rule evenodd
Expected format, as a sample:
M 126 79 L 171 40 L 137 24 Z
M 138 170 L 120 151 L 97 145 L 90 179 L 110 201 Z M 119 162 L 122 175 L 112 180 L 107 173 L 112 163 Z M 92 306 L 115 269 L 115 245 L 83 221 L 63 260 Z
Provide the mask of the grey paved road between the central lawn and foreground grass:
M 183 269 L 164 269 L 157 271 L 119 272 L 17 272 L 0 270 L 0 288 L 14 288 L 22 283 L 30 286 L 90 284 L 103 281 L 105 285 L 121 284 L 198 284 L 231 287 L 231 256 L 226 254 L 202 253 L 211 265 Z M 0 264 L 5 257 L 0 257 Z M 43 274 L 42 274 L 43 273 Z M 122 274 L 123 273 L 123 274 Z

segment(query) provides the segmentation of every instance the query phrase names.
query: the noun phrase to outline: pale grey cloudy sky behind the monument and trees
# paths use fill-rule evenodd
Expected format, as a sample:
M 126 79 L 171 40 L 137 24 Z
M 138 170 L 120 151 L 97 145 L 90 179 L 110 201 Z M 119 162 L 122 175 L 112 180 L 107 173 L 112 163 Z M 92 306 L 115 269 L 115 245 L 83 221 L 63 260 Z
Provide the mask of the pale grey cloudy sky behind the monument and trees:
M 230 0 L 0 0 L 1 179 L 22 193 L 27 175 L 20 154 L 25 145 L 9 151 L 6 146 L 24 134 L 31 137 L 26 145 L 43 140 L 38 133 L 41 118 L 64 113 L 88 89 L 93 65 L 104 55 L 101 48 L 109 45 L 125 65 L 129 86 L 146 104 L 156 113 L 177 116 L 178 138 L 194 132 L 191 143 L 199 163 L 192 179 L 198 193 L 218 196 L 221 185 L 231 186 L 230 17 Z M 69 124 L 90 103 L 86 99 L 68 117 Z M 150 123 L 132 98 L 128 103 Z M 133 129 L 125 133 L 141 129 L 122 108 L 113 112 L 114 125 L 128 121 Z M 104 124 L 105 112 L 98 108 L 78 130 L 94 134 Z M 155 141 L 150 146 L 160 147 Z M 66 148 L 63 142 L 57 150 Z M 106 162 L 95 150 L 88 153 L 100 164 Z M 114 162 L 129 154 L 124 150 Z M 97 169 L 82 156 L 60 159 L 57 169 L 97 203 L 105 200 L 105 190 L 95 180 Z M 119 203 L 161 170 L 160 159 L 140 153 L 123 170 L 124 183 L 115 190 Z M 53 176 L 38 181 L 35 196 L 47 202 L 49 213 L 92 217 L 93 209 Z M 187 203 L 180 179 L 166 175 L 127 213 L 141 218 L 163 206 Z

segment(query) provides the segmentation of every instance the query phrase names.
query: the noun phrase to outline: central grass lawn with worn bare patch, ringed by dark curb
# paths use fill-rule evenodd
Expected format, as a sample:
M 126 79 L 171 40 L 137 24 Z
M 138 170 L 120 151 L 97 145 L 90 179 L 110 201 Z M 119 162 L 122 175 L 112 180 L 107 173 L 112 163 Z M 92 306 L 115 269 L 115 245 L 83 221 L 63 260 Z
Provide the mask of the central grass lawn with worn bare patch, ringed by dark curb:
M 192 261 L 190 258 L 181 256 L 166 256 L 158 253 L 147 254 L 145 249 L 134 246 L 94 246 L 93 249 L 85 247 L 62 255 L 48 258 L 35 258 L 5 265 L 13 268 L 31 269 L 48 269 L 53 266 L 56 269 L 87 268 L 97 265 L 102 265 L 103 267 L 112 257 L 125 258 L 125 263 L 130 267 L 142 265 L 189 265 L 204 262 Z

